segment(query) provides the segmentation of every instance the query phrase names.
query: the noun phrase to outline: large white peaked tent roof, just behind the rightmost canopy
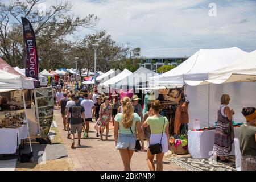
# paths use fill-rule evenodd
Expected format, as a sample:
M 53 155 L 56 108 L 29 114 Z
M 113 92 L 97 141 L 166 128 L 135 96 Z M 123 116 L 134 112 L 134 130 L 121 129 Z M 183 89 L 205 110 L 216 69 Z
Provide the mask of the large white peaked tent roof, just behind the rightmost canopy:
M 184 80 L 204 81 L 210 71 L 224 68 L 246 54 L 237 47 L 200 49 L 171 71 L 149 78 L 150 85 L 184 84 Z

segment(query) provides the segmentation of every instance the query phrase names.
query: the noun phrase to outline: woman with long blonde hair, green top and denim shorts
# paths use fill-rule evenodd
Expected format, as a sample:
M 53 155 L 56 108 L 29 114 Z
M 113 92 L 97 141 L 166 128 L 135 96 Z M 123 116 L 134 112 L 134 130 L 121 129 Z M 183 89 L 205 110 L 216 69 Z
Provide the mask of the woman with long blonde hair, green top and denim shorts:
M 141 128 L 141 118 L 133 112 L 133 104 L 129 97 L 123 97 L 121 100 L 123 112 L 115 115 L 114 138 L 115 148 L 119 150 L 125 171 L 131 171 L 131 157 L 135 150 L 136 132 L 142 143 L 144 151 L 144 136 Z

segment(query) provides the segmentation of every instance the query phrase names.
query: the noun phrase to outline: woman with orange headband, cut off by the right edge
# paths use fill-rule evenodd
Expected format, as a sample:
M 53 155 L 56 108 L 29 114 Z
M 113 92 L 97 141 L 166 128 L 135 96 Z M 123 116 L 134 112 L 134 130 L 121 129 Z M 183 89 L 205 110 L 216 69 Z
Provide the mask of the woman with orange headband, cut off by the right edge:
M 242 114 L 246 119 L 241 126 L 239 146 L 242 154 L 242 171 L 256 171 L 256 109 L 243 107 Z

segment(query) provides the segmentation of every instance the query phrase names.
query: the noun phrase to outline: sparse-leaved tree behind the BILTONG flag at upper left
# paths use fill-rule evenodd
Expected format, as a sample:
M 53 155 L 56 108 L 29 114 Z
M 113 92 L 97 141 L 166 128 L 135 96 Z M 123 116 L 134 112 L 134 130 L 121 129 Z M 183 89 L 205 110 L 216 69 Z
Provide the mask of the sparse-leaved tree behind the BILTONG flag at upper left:
M 21 16 L 30 20 L 34 27 L 40 64 L 46 67 L 55 67 L 54 61 L 60 59 L 59 53 L 66 44 L 63 42 L 65 36 L 73 34 L 79 27 L 93 27 L 98 22 L 97 16 L 93 14 L 85 18 L 73 15 L 72 4 L 69 1 L 57 1 L 46 12 L 38 8 L 43 2 L 43 0 L 14 0 L 0 3 L 0 56 L 3 56 L 11 66 L 23 67 L 26 61 Z M 47 55 L 50 53 L 53 54 L 49 60 Z M 60 61 L 65 63 L 64 59 Z

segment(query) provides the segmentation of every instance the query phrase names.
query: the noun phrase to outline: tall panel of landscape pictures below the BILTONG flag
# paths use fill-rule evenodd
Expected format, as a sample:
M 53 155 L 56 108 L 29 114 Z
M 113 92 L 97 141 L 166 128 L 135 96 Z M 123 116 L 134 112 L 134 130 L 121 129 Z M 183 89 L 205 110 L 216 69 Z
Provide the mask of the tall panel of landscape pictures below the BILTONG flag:
M 36 111 L 40 124 L 41 137 L 47 137 L 53 120 L 54 100 L 52 88 L 39 88 L 35 90 Z

